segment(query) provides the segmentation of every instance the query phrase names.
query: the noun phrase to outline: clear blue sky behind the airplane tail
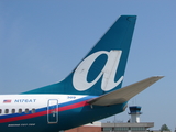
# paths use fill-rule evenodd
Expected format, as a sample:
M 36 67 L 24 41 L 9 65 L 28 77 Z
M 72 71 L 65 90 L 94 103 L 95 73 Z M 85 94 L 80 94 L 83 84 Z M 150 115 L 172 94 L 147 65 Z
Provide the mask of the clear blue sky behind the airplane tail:
M 163 79 L 129 101 L 141 122 L 176 128 L 175 0 L 0 0 L 0 94 L 62 80 L 122 14 L 138 15 L 123 86 Z M 102 121 L 123 121 L 129 109 Z

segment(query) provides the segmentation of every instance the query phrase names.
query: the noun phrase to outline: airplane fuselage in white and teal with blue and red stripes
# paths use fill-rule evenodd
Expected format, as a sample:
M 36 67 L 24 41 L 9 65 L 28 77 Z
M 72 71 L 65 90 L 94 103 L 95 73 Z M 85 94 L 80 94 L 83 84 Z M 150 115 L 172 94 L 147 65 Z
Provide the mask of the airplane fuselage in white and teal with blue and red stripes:
M 90 106 L 97 96 L 3 95 L 0 96 L 1 132 L 58 132 L 122 112 L 127 103 Z

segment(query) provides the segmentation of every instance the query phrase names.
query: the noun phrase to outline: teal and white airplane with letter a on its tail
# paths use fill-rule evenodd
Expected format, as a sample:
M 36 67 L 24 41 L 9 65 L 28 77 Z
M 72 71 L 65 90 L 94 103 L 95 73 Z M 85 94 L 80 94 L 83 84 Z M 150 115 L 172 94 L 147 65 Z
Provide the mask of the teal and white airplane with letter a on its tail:
M 162 78 L 121 88 L 135 20 L 121 15 L 64 80 L 1 95 L 0 132 L 58 132 L 124 111 L 132 97 Z

